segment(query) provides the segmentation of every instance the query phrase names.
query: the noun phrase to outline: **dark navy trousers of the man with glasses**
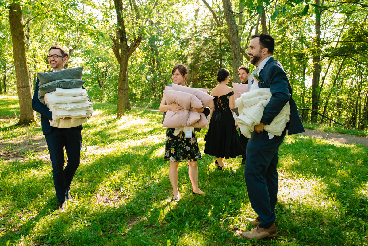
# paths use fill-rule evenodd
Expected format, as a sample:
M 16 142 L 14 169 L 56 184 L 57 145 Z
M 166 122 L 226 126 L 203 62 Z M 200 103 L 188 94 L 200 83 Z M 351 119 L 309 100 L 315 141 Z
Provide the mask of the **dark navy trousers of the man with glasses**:
M 52 131 L 45 134 L 52 162 L 56 197 L 59 203 L 66 201 L 66 196 L 70 192 L 71 181 L 79 166 L 82 147 L 81 130 L 77 127 L 52 127 Z M 68 157 L 65 169 L 64 147 Z

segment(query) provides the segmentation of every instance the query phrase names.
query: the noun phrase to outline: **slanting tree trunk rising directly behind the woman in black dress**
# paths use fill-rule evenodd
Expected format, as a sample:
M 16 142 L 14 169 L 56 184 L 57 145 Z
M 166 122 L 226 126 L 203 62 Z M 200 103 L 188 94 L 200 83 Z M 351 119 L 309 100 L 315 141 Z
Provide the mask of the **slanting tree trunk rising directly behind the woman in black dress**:
M 235 17 L 233 14 L 231 1 L 222 0 L 222 3 L 224 7 L 224 15 L 227 23 L 227 28 L 229 29 L 231 57 L 232 57 L 231 64 L 233 66 L 234 82 L 241 83 L 240 78 L 238 76 L 238 67 L 240 67 L 243 57 L 240 51 L 241 48 L 240 48 L 240 38 L 238 36 L 238 26 L 236 24 Z

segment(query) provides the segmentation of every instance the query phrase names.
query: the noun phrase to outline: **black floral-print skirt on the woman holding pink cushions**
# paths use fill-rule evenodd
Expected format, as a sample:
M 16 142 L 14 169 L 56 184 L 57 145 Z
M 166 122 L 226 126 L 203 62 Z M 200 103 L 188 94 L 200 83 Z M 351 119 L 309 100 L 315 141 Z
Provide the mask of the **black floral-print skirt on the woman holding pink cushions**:
M 165 161 L 198 161 L 202 159 L 199 151 L 197 137 L 193 132 L 192 137 L 185 137 L 181 131 L 178 136 L 174 135 L 175 128 L 166 129 Z

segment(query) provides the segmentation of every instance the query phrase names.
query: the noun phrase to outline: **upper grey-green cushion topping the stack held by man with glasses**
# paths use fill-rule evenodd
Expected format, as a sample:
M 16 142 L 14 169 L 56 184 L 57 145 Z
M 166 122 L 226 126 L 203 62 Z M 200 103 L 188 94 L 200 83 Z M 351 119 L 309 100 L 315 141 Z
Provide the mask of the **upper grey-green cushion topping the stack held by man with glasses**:
M 46 73 L 37 73 L 39 86 L 55 80 L 63 80 L 66 78 L 82 79 L 83 67 L 67 68 Z

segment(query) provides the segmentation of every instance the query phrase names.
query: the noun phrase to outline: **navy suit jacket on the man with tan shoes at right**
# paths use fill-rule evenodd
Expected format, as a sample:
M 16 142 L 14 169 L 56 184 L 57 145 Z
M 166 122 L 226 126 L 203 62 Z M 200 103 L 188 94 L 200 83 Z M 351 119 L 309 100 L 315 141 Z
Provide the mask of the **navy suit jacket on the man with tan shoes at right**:
M 293 90 L 281 63 L 271 57 L 259 72 L 259 88 L 269 88 L 272 96 L 265 110 L 261 122 L 269 125 L 272 120 L 280 113 L 285 104 L 290 103 L 290 121 L 286 128 L 290 134 L 304 132 L 297 105 L 292 98 Z

